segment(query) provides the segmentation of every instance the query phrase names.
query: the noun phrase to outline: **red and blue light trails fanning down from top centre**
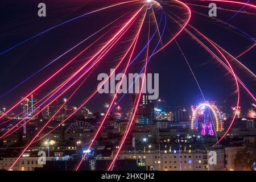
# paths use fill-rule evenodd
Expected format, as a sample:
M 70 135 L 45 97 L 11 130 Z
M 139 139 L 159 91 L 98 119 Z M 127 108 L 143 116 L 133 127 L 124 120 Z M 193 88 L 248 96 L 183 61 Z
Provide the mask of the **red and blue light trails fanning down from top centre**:
M 218 19 L 218 17 L 209 17 L 208 15 L 204 15 L 198 11 L 195 11 L 192 9 L 192 7 L 200 7 L 205 9 L 204 6 L 201 5 L 205 2 L 218 2 L 220 5 L 225 5 L 225 8 L 221 8 L 222 11 L 231 12 L 232 15 L 229 16 L 228 19 L 222 20 Z M 197 4 L 198 3 L 198 4 Z M 221 0 L 194 0 L 193 3 L 191 1 L 153 1 L 153 0 L 146 0 L 146 1 L 126 1 L 121 3 L 115 3 L 114 5 L 109 5 L 105 7 L 101 7 L 100 9 L 90 11 L 89 13 L 85 13 L 79 16 L 76 16 L 75 18 L 69 19 L 63 23 L 57 24 L 56 26 L 53 26 L 51 28 L 48 28 L 45 31 L 42 31 L 31 38 L 28 38 L 24 40 L 23 42 L 17 43 L 16 45 L 6 49 L 5 51 L 0 53 L 0 56 L 5 55 L 7 52 L 15 51 L 16 47 L 22 48 L 23 44 L 36 39 L 40 35 L 46 34 L 47 32 L 50 34 L 51 30 L 56 29 L 59 30 L 59 28 L 65 28 L 65 24 L 76 22 L 77 20 L 82 20 L 83 17 L 86 17 L 87 15 L 93 15 L 94 13 L 104 13 L 106 10 L 114 9 L 114 7 L 121 7 L 121 6 L 127 6 L 127 5 L 137 5 L 136 9 L 129 9 L 127 12 L 125 12 L 123 15 L 119 16 L 117 19 L 114 19 L 110 21 L 110 23 L 102 24 L 101 28 L 98 28 L 97 31 L 95 31 L 93 34 L 89 34 L 89 36 L 84 36 L 82 41 L 80 40 L 78 43 L 73 44 L 72 46 L 69 46 L 68 49 L 65 49 L 61 55 L 56 56 L 55 59 L 52 59 L 50 63 L 48 63 L 43 68 L 39 69 L 39 71 L 35 72 L 30 77 L 27 77 L 26 80 L 20 82 L 18 85 L 11 88 L 8 92 L 5 94 L 2 94 L 0 96 L 0 99 L 3 97 L 6 97 L 10 92 L 14 92 L 16 88 L 21 87 L 24 82 L 27 82 L 32 77 L 37 75 L 39 72 L 43 71 L 47 67 L 50 67 L 55 63 L 56 61 L 59 61 L 61 58 L 64 58 L 65 55 L 68 53 L 73 54 L 73 51 L 76 48 L 81 48 L 79 53 L 74 53 L 72 56 L 72 59 L 68 59 L 66 63 L 61 65 L 59 68 L 56 69 L 56 71 L 49 77 L 44 78 L 43 81 L 40 80 L 40 84 L 34 85 L 34 89 L 31 89 L 28 91 L 27 96 L 30 96 L 31 94 L 34 94 L 35 92 L 44 92 L 43 89 L 47 90 L 47 94 L 41 93 L 42 98 L 39 99 L 39 101 L 35 104 L 35 109 L 32 110 L 29 114 L 25 115 L 23 118 L 22 116 L 26 113 L 28 113 L 29 110 L 31 110 L 31 107 L 28 107 L 26 110 L 23 110 L 21 113 L 16 115 L 15 117 L 9 118 L 7 121 L 4 121 L 3 119 L 7 116 L 7 114 L 10 114 L 11 111 L 14 111 L 18 108 L 20 104 L 24 100 L 26 100 L 26 97 L 23 97 L 21 100 L 18 100 L 13 104 L 10 109 L 5 111 L 5 114 L 0 116 L 0 126 L 5 125 L 6 123 L 10 122 L 10 125 L 7 127 L 4 127 L 0 131 L 0 133 L 3 133 L 0 137 L 0 139 L 9 137 L 11 134 L 14 134 L 16 131 L 18 131 L 20 128 L 25 126 L 26 124 L 30 123 L 32 120 L 35 119 L 36 116 L 39 114 L 42 114 L 43 111 L 47 109 L 48 106 L 51 106 L 53 102 L 55 102 L 58 98 L 61 96 L 67 95 L 67 100 L 64 104 L 62 104 L 55 112 L 54 114 L 47 119 L 46 122 L 43 123 L 42 127 L 38 131 L 36 131 L 34 137 L 24 146 L 23 150 L 20 151 L 20 154 L 18 155 L 18 158 L 14 160 L 14 162 L 11 164 L 9 170 L 13 169 L 15 164 L 19 161 L 19 159 L 22 157 L 22 155 L 29 150 L 31 145 L 39 140 L 42 140 L 44 137 L 46 137 L 48 134 L 55 131 L 59 126 L 61 126 L 64 122 L 68 121 L 69 118 L 71 118 L 73 115 L 77 113 L 83 106 L 88 104 L 98 93 L 99 88 L 93 89 L 93 92 L 90 93 L 89 97 L 83 98 L 82 104 L 80 104 L 79 107 L 77 107 L 76 110 L 74 110 L 71 114 L 68 114 L 67 118 L 65 118 L 63 121 L 59 122 L 59 124 L 50 131 L 43 133 L 44 130 L 47 129 L 50 123 L 52 123 L 53 119 L 57 116 L 58 113 L 60 113 L 61 109 L 64 108 L 66 102 L 70 102 L 72 98 L 81 90 L 82 86 L 88 85 L 86 82 L 90 76 L 92 76 L 93 73 L 97 71 L 97 68 L 100 67 L 101 64 L 103 64 L 104 59 L 108 55 L 112 55 L 113 52 L 119 52 L 121 49 L 122 55 L 118 57 L 117 63 L 115 63 L 114 70 L 117 70 L 119 67 L 121 67 L 122 64 L 125 65 L 125 69 L 123 69 L 123 73 L 126 74 L 128 72 L 128 69 L 132 67 L 137 61 L 138 63 L 143 63 L 143 68 L 140 73 L 144 73 L 144 76 L 142 78 L 142 85 L 145 81 L 145 75 L 148 72 L 149 67 L 149 61 L 151 59 L 154 59 L 154 56 L 157 53 L 164 53 L 163 51 L 166 51 L 168 46 L 171 46 L 173 42 L 176 43 L 176 46 L 179 48 L 179 51 L 181 52 L 181 55 L 183 56 L 185 62 L 189 66 L 189 70 L 192 72 L 192 76 L 196 81 L 196 84 L 199 88 L 199 91 L 201 95 L 203 96 L 204 101 L 207 101 L 207 96 L 205 96 L 205 93 L 203 94 L 203 89 L 201 89 L 201 86 L 199 85 L 200 77 L 196 77 L 194 71 L 192 70 L 191 65 L 188 63 L 187 55 L 188 53 L 185 53 L 183 49 L 181 49 L 180 43 L 181 40 L 179 40 L 179 44 L 177 42 L 177 39 L 180 38 L 180 36 L 183 36 L 183 32 L 189 36 L 190 39 L 194 40 L 199 46 L 200 50 L 203 50 L 207 53 L 208 56 L 211 56 L 212 59 L 216 60 L 217 63 L 221 65 L 222 71 L 225 70 L 227 75 L 232 76 L 232 81 L 230 81 L 230 87 L 232 87 L 236 92 L 236 102 L 232 104 L 236 104 L 234 107 L 234 116 L 230 118 L 230 123 L 228 128 L 225 130 L 224 134 L 218 138 L 217 137 L 217 130 L 215 129 L 214 123 L 213 128 L 216 134 L 216 142 L 214 145 L 219 144 L 228 134 L 229 130 L 232 128 L 233 123 L 235 122 L 236 115 L 238 113 L 238 108 L 240 108 L 241 104 L 241 98 L 242 94 L 240 91 L 240 86 L 244 91 L 250 96 L 250 99 L 255 102 L 255 93 L 251 91 L 250 85 L 246 85 L 245 81 L 246 78 L 242 78 L 238 73 L 239 71 L 245 71 L 247 73 L 246 76 L 249 77 L 251 81 L 255 81 L 255 73 L 254 70 L 250 67 L 247 67 L 245 64 L 245 57 L 247 54 L 254 51 L 256 46 L 256 41 L 253 38 L 250 33 L 243 30 L 243 28 L 238 28 L 234 26 L 232 23 L 234 19 L 237 18 L 237 16 L 243 14 L 247 16 L 256 16 L 255 10 L 256 6 L 251 4 L 250 1 L 246 2 L 238 2 L 238 1 L 221 1 Z M 228 9 L 227 7 L 229 5 L 240 7 L 239 10 L 233 10 Z M 242 7 L 241 7 L 242 5 Z M 246 10 L 245 10 L 246 9 Z M 250 11 L 248 11 L 250 10 Z M 88 12 L 88 11 L 87 11 Z M 234 14 L 235 13 L 235 14 Z M 214 41 L 216 39 L 209 36 L 204 31 L 201 31 L 200 28 L 197 28 L 193 23 L 194 20 L 192 20 L 192 16 L 202 16 L 213 20 L 213 22 L 220 23 L 221 28 L 224 28 L 225 31 L 232 31 L 236 35 L 241 35 L 241 39 L 245 39 L 247 42 L 247 46 L 239 47 L 238 53 L 233 53 L 231 51 L 232 49 L 228 46 L 222 45 L 221 43 L 218 43 L 217 41 Z M 152 18 L 150 18 L 152 16 Z M 147 18 L 148 17 L 148 18 Z M 162 22 L 162 18 L 164 17 L 164 23 Z M 196 17 L 196 16 L 195 16 Z M 167 20 L 167 18 L 169 18 Z M 157 20 L 160 19 L 158 22 Z M 148 22 L 147 22 L 148 20 Z M 152 21 L 152 23 L 151 23 Z M 148 23 L 148 24 L 147 24 Z M 154 24 L 154 28 L 152 28 Z M 175 26 L 173 26 L 175 24 Z M 212 23 L 214 24 L 214 23 Z M 139 26 L 138 26 L 139 25 Z M 146 28 L 145 28 L 146 27 Z M 171 31 L 165 31 L 166 28 L 171 29 Z M 151 30 L 152 29 L 152 30 Z M 173 32 L 173 33 L 172 33 Z M 157 38 L 155 35 L 158 35 Z M 143 37 L 143 35 L 146 37 Z M 121 42 L 129 42 L 127 48 L 120 48 L 117 46 Z M 128 41 L 129 40 L 129 41 Z M 91 41 L 89 43 L 89 41 Z M 88 45 L 84 46 L 84 43 L 89 43 Z M 253 44 L 251 44 L 253 42 Z M 141 43 L 143 44 L 143 47 L 141 48 Z M 146 44 L 146 46 L 144 46 Z M 75 45 L 75 46 L 74 46 Z M 249 45 L 249 46 L 248 46 Z M 152 52 L 151 52 L 152 49 Z M 137 55 L 136 52 L 139 52 Z M 201 52 L 203 52 L 201 51 Z M 75 51 L 74 51 L 75 52 Z M 86 55 L 88 54 L 88 55 Z M 89 58 L 84 58 L 83 56 L 86 55 Z M 186 56 L 185 56 L 186 55 Z M 233 56 L 236 55 L 236 56 Z M 238 56 L 237 56 L 238 55 Z M 139 58 L 143 57 L 142 60 L 139 60 Z M 71 69 L 71 65 L 75 64 L 78 58 L 81 58 L 82 64 L 78 66 L 77 69 L 73 70 L 71 74 L 67 76 L 67 78 L 62 78 L 60 75 L 63 74 L 67 69 Z M 82 58 L 83 57 L 83 58 Z M 146 57 L 146 58 L 145 58 Z M 239 60 L 238 60 L 239 58 Z M 127 60 L 126 60 L 127 59 Z M 241 59 L 241 60 L 240 60 Z M 244 59 L 244 60 L 243 60 Z M 126 60 L 126 62 L 125 62 Z M 234 65 L 238 65 L 237 67 L 234 67 Z M 223 69 L 224 68 L 224 69 Z M 110 73 L 108 78 L 112 76 L 113 73 Z M 239 76 L 238 76 L 239 75 Z M 58 77 L 59 76 L 59 77 Z M 60 78 L 61 82 L 57 83 L 53 89 L 48 88 L 48 83 Z M 128 93 L 130 87 L 127 89 L 126 93 L 123 94 L 117 100 L 119 94 L 119 90 L 121 89 L 121 83 L 123 82 L 123 78 L 121 78 L 120 84 L 118 85 L 116 92 L 114 93 L 113 97 L 110 101 L 105 101 L 108 104 L 108 107 L 105 108 L 104 111 L 104 117 L 100 120 L 100 125 L 97 126 L 96 131 L 93 133 L 92 140 L 90 140 L 90 144 L 87 147 L 87 150 L 89 151 L 94 143 L 96 142 L 96 139 L 101 134 L 101 130 L 104 127 L 104 124 L 106 123 L 107 117 L 110 114 L 110 111 L 112 111 L 115 107 L 115 104 L 119 103 L 123 97 Z M 135 78 L 136 80 L 137 78 Z M 248 79 L 248 80 L 249 80 Z M 135 82 L 135 81 L 134 81 Z M 133 82 L 133 84 L 134 84 Z M 105 82 L 102 83 L 104 85 Z M 101 85 L 101 86 L 102 86 Z M 123 136 L 121 137 L 121 140 L 118 144 L 117 151 L 113 151 L 112 161 L 110 165 L 108 166 L 108 170 L 114 169 L 114 164 L 116 160 L 118 159 L 118 155 L 121 152 L 123 145 L 125 144 L 128 135 L 130 134 L 130 131 L 132 129 L 132 125 L 134 123 L 135 115 L 138 110 L 139 102 L 142 97 L 142 90 L 143 86 L 139 89 L 139 93 L 137 94 L 136 100 L 134 105 L 132 105 L 131 109 L 131 115 L 128 119 L 127 126 L 125 129 L 125 132 Z M 49 93 L 48 93 L 49 92 Z M 22 94 L 19 94 L 22 95 Z M 33 108 L 33 107 L 32 107 Z M 249 117 L 255 118 L 255 111 L 253 109 L 249 110 L 248 113 Z M 22 118 L 22 119 L 17 119 Z M 3 121 L 2 121 L 3 120 Z M 213 122 L 213 119 L 212 119 Z M 42 137 L 39 137 L 40 134 L 43 134 Z M 160 147 L 160 146 L 159 146 Z M 114 150 L 114 149 L 113 149 Z M 82 162 L 86 159 L 86 156 L 88 155 L 88 152 L 85 152 L 81 156 L 81 159 L 79 159 L 79 162 L 77 163 L 77 166 L 75 170 L 79 170 L 81 167 Z M 181 168 L 180 168 L 181 169 Z

